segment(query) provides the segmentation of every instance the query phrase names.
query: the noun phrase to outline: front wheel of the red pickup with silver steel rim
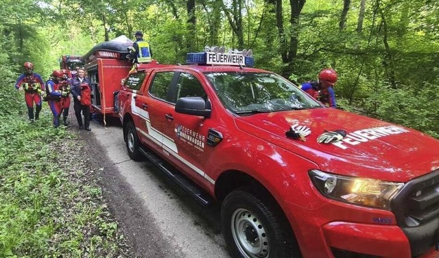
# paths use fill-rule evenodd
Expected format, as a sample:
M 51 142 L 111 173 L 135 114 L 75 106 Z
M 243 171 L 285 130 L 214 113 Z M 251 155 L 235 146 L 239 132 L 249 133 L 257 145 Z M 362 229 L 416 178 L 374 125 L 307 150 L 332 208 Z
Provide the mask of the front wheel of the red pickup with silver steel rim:
M 221 208 L 222 229 L 233 258 L 297 258 L 300 249 L 281 209 L 271 198 L 232 191 Z

